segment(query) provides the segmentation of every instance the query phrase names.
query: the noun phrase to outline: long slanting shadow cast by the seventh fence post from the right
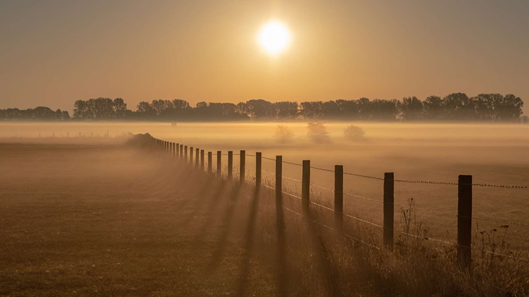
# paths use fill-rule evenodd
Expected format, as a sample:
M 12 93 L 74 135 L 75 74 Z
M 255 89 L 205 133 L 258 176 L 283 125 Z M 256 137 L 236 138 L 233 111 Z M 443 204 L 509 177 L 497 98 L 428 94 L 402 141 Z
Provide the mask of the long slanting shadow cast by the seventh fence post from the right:
M 209 262 L 209 267 L 212 268 L 212 271 L 218 268 L 224 256 L 224 250 L 226 249 L 227 239 L 228 239 L 228 236 L 230 235 L 230 230 L 232 226 L 233 212 L 236 208 L 237 201 L 239 201 L 240 196 L 241 196 L 241 185 L 239 183 L 235 183 L 228 196 L 229 202 L 224 212 L 224 216 L 222 217 L 222 220 L 221 220 L 221 224 L 222 224 L 221 237 L 217 242 L 217 248 L 213 252 L 213 255 Z

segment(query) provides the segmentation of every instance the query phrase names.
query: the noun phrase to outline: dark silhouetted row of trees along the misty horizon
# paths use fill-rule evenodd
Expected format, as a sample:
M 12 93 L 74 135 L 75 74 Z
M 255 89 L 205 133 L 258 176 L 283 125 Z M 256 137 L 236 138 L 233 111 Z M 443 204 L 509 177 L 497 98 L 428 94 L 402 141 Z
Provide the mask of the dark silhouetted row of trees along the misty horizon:
M 194 107 L 185 100 L 142 101 L 136 110 L 127 109 L 122 98 L 77 100 L 71 120 L 80 121 L 238 121 L 238 120 L 348 120 L 348 121 L 486 121 L 527 122 L 522 116 L 523 101 L 512 95 L 479 94 L 469 97 L 452 93 L 402 100 L 362 97 L 358 100 L 306 102 L 198 102 Z M 70 120 L 68 112 L 53 112 L 48 107 L 0 110 L 0 120 Z

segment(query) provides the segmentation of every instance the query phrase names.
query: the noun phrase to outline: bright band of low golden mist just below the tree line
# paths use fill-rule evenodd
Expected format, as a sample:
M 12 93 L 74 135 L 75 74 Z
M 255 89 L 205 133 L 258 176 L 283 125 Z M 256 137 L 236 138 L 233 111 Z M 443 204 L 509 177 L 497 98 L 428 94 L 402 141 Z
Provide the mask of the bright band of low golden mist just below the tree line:
M 490 123 L 354 122 L 361 137 L 346 134 L 351 122 L 326 122 L 309 130 L 308 122 L 1 122 L 0 138 L 72 142 L 74 139 L 150 133 L 175 142 L 208 146 L 527 146 L 529 125 Z M 282 128 L 279 128 L 282 127 Z M 279 133 L 278 133 L 279 132 Z M 315 133 L 317 132 L 317 133 Z

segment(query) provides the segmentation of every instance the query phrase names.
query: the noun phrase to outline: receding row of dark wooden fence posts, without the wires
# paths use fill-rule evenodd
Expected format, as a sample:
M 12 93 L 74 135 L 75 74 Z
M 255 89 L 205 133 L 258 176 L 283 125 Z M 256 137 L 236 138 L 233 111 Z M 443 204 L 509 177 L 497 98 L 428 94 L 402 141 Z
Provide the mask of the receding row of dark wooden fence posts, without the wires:
M 152 137 L 151 137 L 152 138 Z M 153 146 L 158 147 L 163 152 L 174 157 L 187 161 L 187 146 L 179 143 L 169 143 L 157 138 L 152 138 Z M 199 157 L 200 152 L 200 157 Z M 193 163 L 193 147 L 190 147 L 190 163 Z M 204 170 L 204 150 L 196 148 L 195 167 Z M 245 150 L 240 151 L 240 183 L 245 181 Z M 213 173 L 211 151 L 207 152 L 209 174 Z M 256 152 L 256 188 L 260 188 L 262 183 L 262 155 Z M 275 173 L 275 200 L 277 215 L 282 215 L 282 156 L 276 156 Z M 222 176 L 222 151 L 217 151 L 217 176 Z M 343 166 L 334 166 L 334 226 L 336 230 L 343 231 Z M 233 178 L 233 151 L 228 151 L 227 177 Z M 303 215 L 309 218 L 310 205 L 310 185 L 311 185 L 311 161 L 303 160 L 302 164 L 302 211 Z M 393 249 L 394 245 L 394 221 L 395 221 L 395 174 L 393 172 L 384 173 L 383 186 L 383 235 L 384 246 Z M 472 176 L 459 175 L 458 177 L 458 233 L 457 233 L 457 263 L 464 268 L 471 264 L 471 242 L 472 242 Z

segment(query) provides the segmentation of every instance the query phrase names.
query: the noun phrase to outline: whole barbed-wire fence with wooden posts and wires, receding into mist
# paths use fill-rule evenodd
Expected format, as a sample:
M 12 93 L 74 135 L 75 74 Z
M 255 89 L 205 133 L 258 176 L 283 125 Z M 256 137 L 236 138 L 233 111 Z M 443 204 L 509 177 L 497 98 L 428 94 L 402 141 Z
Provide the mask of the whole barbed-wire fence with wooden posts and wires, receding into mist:
M 184 162 L 189 162 L 191 165 L 193 165 L 193 147 L 189 147 L 189 159 L 188 159 L 188 147 L 184 146 L 180 143 L 170 142 L 166 140 L 161 140 L 157 138 L 153 138 L 149 134 L 149 145 L 157 148 L 158 150 L 161 150 L 164 154 L 167 154 L 173 158 L 178 158 L 180 160 L 183 160 Z M 205 160 L 204 160 L 204 150 L 199 150 L 198 148 L 195 148 L 196 151 L 196 157 L 195 157 L 195 167 L 200 167 L 202 170 L 205 169 Z M 198 157 L 198 154 L 200 152 L 200 158 Z M 430 238 L 430 237 L 421 237 L 418 235 L 414 235 L 412 233 L 404 232 L 404 231 L 398 231 L 399 233 L 402 233 L 406 236 L 416 237 L 423 240 L 428 241 L 435 241 L 440 242 L 442 244 L 447 245 L 454 245 L 457 247 L 457 262 L 463 266 L 468 267 L 471 263 L 471 249 L 472 249 L 472 220 L 482 220 L 482 221 L 491 221 L 491 222 L 497 222 L 502 224 L 514 224 L 519 226 L 525 226 L 529 227 L 529 224 L 521 223 L 521 222 L 513 222 L 513 221 L 507 221 L 507 220 L 495 220 L 495 219 L 489 219 L 489 218 L 480 218 L 480 217 L 473 217 L 472 216 L 472 187 L 479 186 L 479 187 L 502 187 L 502 188 L 518 188 L 518 189 L 529 189 L 529 186 L 520 186 L 520 185 L 492 185 L 492 184 L 477 184 L 472 183 L 472 176 L 471 175 L 459 175 L 458 182 L 457 183 L 449 183 L 449 182 L 435 182 L 435 181 L 411 181 L 411 180 L 405 180 L 405 179 L 395 179 L 393 172 L 387 172 L 384 174 L 384 177 L 375 177 L 375 176 L 369 176 L 369 175 L 362 175 L 362 174 L 355 174 L 355 173 L 348 173 L 343 171 L 342 165 L 335 165 L 334 170 L 331 169 L 325 169 L 325 168 L 318 168 L 311 166 L 310 160 L 303 160 L 302 164 L 299 163 L 293 163 L 289 161 L 282 160 L 282 156 L 276 156 L 276 158 L 267 158 L 263 157 L 261 152 L 256 152 L 255 155 L 249 155 L 246 154 L 245 150 L 241 150 L 240 154 L 233 154 L 233 151 L 229 151 L 227 154 L 222 154 L 222 151 L 216 152 L 216 175 L 221 176 L 222 173 L 222 156 L 227 155 L 227 177 L 230 179 L 233 179 L 233 156 L 238 155 L 240 158 L 240 168 L 239 168 L 239 182 L 242 184 L 244 182 L 254 182 L 255 186 L 257 188 L 260 187 L 266 187 L 269 188 L 272 191 L 275 191 L 275 197 L 276 197 L 276 208 L 287 210 L 291 213 L 294 213 L 296 215 L 299 215 L 301 217 L 305 217 L 327 229 L 333 230 L 335 232 L 339 232 L 342 235 L 351 238 L 355 241 L 361 242 L 362 244 L 365 244 L 369 247 L 380 249 L 380 247 L 377 247 L 375 245 L 369 244 L 366 241 L 363 241 L 359 238 L 355 238 L 344 231 L 343 226 L 343 217 L 347 217 L 353 220 L 357 220 L 363 223 L 370 224 L 371 226 L 375 226 L 377 228 L 380 228 L 382 230 L 382 241 L 384 242 L 384 246 L 388 249 L 392 249 L 394 245 L 394 236 L 395 236 L 395 228 L 394 228 L 394 214 L 395 214 L 395 206 L 400 206 L 402 208 L 408 208 L 413 210 L 421 210 L 421 211 L 427 211 L 437 214 L 444 214 L 444 215 L 450 215 L 452 217 L 457 217 L 457 242 L 450 242 L 442 239 L 436 239 L 436 238 Z M 207 153 L 207 172 L 210 174 L 213 174 L 213 168 L 212 168 L 212 159 L 213 159 L 213 152 L 208 151 Z M 255 180 L 247 179 L 245 176 L 246 173 L 246 157 L 254 157 L 255 158 L 255 167 L 248 167 L 256 170 L 256 176 Z M 263 171 L 262 168 L 262 160 L 270 160 L 275 162 L 275 187 L 266 185 L 262 183 L 262 173 L 269 173 Z M 291 178 L 288 176 L 284 176 L 282 174 L 282 164 L 290 164 L 294 166 L 302 167 L 302 179 L 296 179 Z M 311 169 L 314 170 L 323 170 L 326 172 L 334 173 L 334 189 L 322 187 L 316 184 L 311 183 Z M 376 179 L 380 181 L 384 181 L 383 190 L 384 195 L 382 200 L 372 199 L 360 195 L 355 195 L 351 193 L 345 193 L 343 191 L 343 176 L 344 175 L 352 175 L 357 177 L 363 177 L 363 178 L 369 178 L 369 179 Z M 302 194 L 301 196 L 297 196 L 291 193 L 288 193 L 283 190 L 282 187 L 282 179 L 289 179 L 294 182 L 301 183 L 302 185 Z M 421 183 L 421 184 L 444 184 L 444 185 L 457 185 L 458 186 L 458 211 L 457 214 L 448 213 L 448 212 L 442 212 L 437 210 L 431 210 L 431 209 L 424 209 L 424 208 L 417 208 L 411 205 L 402 205 L 395 203 L 394 201 L 394 189 L 395 189 L 395 182 L 399 183 Z M 322 188 L 323 190 L 331 191 L 334 193 L 334 209 L 329 208 L 325 205 L 319 204 L 317 202 L 311 201 L 310 197 L 310 190 L 311 186 Z M 302 206 L 302 212 L 296 212 L 290 208 L 287 208 L 285 205 L 282 204 L 282 194 L 289 195 L 291 197 L 294 197 L 301 202 Z M 383 223 L 376 224 L 369 222 L 367 220 L 363 220 L 361 218 L 354 217 L 353 215 L 346 214 L 343 212 L 343 195 L 348 195 L 352 197 L 357 197 L 360 199 L 366 199 L 371 200 L 375 202 L 379 202 L 383 204 Z M 315 205 L 319 208 L 325 209 L 327 211 L 332 211 L 334 213 L 334 228 L 331 226 L 328 226 L 322 222 L 318 222 L 316 220 L 312 220 L 309 217 L 309 205 Z M 495 251 L 485 251 L 485 253 L 500 256 L 500 257 L 507 257 L 512 258 L 516 260 L 520 260 L 523 262 L 529 262 L 529 259 L 518 257 L 516 255 L 507 255 L 502 253 L 497 253 Z

